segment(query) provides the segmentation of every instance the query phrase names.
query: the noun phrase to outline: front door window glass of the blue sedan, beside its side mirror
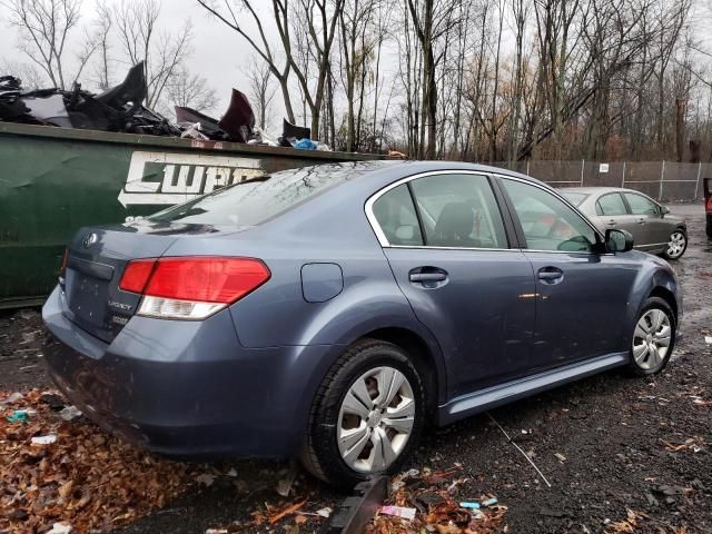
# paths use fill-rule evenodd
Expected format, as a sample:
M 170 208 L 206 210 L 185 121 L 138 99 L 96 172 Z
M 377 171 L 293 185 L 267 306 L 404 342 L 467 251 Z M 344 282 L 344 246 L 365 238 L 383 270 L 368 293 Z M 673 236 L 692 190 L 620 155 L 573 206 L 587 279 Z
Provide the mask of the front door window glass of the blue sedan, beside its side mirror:
M 587 253 L 596 233 L 570 206 L 551 192 L 521 181 L 503 179 L 522 225 L 527 248 Z

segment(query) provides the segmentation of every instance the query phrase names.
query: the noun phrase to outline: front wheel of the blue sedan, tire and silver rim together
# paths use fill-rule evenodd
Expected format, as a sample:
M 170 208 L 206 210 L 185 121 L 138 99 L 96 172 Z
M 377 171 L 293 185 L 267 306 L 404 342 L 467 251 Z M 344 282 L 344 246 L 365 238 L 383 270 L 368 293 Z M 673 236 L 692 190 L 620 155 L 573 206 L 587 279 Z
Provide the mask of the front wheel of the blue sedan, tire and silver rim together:
M 649 298 L 635 326 L 631 342 L 629 370 L 635 376 L 660 373 L 675 347 L 675 314 L 662 298 Z

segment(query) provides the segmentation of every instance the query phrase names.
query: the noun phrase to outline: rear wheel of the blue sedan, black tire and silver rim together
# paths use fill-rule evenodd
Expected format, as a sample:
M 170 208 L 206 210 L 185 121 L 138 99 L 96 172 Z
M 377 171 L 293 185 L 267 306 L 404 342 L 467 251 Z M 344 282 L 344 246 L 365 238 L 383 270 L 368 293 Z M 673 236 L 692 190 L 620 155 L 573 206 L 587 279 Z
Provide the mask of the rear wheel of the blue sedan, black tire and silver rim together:
M 396 472 L 423 429 L 423 380 L 398 346 L 365 339 L 334 364 L 309 416 L 301 461 L 330 485 L 350 488 Z

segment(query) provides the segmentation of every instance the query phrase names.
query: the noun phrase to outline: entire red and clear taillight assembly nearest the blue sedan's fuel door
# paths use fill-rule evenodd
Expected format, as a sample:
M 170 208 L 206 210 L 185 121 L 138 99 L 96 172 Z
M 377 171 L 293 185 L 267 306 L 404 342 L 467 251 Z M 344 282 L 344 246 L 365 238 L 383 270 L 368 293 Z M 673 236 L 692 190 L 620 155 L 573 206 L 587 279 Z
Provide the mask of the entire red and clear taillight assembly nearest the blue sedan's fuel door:
M 139 315 L 204 319 L 254 291 L 271 276 L 255 258 L 196 256 L 130 261 L 119 287 L 144 295 Z

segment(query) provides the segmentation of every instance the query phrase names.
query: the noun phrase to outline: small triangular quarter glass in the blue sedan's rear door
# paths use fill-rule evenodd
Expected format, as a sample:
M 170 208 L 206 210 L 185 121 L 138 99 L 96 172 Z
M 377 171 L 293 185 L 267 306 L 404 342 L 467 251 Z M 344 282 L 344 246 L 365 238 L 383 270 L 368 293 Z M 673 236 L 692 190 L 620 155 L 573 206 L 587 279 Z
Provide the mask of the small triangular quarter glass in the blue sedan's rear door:
M 374 202 L 373 211 L 390 245 L 416 247 L 423 245 L 421 226 L 406 184 L 380 196 Z

